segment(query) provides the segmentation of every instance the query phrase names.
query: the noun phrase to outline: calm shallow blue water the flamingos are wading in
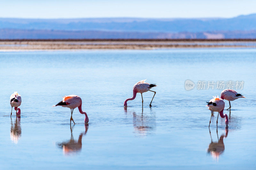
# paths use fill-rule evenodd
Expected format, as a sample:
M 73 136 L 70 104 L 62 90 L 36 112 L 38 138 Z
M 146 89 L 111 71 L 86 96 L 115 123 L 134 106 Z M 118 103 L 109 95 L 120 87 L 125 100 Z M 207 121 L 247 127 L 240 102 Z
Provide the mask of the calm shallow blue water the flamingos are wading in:
M 0 52 L 0 169 L 255 169 L 255 49 L 170 49 Z M 147 79 L 156 91 L 132 96 Z M 244 81 L 247 98 L 224 111 L 229 127 L 206 101 L 221 89 L 185 90 L 185 80 Z M 22 97 L 10 118 L 9 97 Z M 52 105 L 82 98 L 70 110 Z M 228 102 L 225 101 L 226 108 Z M 210 130 L 210 131 L 209 131 Z M 218 143 L 219 138 L 219 143 Z M 222 144 L 223 141 L 223 144 Z M 209 152 L 208 152 L 209 150 Z

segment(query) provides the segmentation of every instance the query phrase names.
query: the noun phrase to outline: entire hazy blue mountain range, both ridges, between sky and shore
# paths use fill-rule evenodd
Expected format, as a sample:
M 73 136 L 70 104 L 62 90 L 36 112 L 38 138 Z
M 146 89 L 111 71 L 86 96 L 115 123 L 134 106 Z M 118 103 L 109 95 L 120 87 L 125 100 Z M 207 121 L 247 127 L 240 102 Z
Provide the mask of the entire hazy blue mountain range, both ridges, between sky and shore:
M 0 39 L 256 38 L 256 14 L 235 18 L 0 18 Z

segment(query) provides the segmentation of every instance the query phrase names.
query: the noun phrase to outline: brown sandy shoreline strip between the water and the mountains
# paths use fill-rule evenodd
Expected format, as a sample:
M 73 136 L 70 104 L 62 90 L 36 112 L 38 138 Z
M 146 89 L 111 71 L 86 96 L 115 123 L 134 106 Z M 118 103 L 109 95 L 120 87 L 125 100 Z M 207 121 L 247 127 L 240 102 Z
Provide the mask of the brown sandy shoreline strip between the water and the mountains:
M 256 40 L 0 40 L 0 51 L 71 49 L 255 48 Z

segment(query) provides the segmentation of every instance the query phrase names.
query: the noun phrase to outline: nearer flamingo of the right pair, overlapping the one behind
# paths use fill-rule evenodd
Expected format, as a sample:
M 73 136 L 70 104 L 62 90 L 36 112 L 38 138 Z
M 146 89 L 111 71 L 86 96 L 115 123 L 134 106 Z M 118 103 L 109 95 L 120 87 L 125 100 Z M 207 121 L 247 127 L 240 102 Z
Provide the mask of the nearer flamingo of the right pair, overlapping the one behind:
M 220 114 L 220 117 L 222 118 L 226 117 L 225 123 L 226 123 L 226 126 L 228 126 L 228 115 L 227 114 L 223 115 L 223 110 L 225 107 L 225 102 L 223 101 L 223 99 L 220 99 L 219 96 L 217 97 L 213 96 L 213 99 L 211 99 L 209 102 L 206 102 L 206 103 L 208 103 L 206 107 L 209 107 L 208 109 L 211 110 L 211 113 L 214 111 L 218 112 L 217 127 L 218 127 L 219 114 Z M 211 114 L 211 119 L 212 119 L 212 114 Z M 209 127 L 211 124 L 211 119 L 210 119 Z

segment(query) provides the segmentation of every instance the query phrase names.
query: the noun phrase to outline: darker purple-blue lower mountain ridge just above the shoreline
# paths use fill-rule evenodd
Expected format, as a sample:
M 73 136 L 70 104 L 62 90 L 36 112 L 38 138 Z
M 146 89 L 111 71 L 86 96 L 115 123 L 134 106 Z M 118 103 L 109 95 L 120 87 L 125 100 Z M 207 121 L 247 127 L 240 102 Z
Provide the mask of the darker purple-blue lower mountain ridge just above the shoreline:
M 168 33 L 0 29 L 0 39 L 256 39 L 256 30 Z

